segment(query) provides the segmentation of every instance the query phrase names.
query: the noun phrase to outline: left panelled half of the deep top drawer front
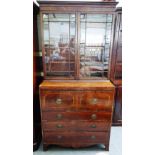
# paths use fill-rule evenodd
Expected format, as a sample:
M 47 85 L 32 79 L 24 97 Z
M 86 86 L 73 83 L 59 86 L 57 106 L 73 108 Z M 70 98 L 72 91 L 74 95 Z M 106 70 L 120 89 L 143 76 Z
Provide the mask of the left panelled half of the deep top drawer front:
M 74 95 L 69 91 L 51 92 L 42 99 L 42 111 L 64 111 L 75 109 Z

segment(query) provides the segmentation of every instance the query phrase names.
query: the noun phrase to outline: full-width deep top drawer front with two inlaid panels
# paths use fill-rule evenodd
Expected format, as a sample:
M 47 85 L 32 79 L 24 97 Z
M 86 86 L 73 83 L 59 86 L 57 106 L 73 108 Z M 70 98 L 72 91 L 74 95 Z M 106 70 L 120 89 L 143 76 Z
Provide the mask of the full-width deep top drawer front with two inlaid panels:
M 41 96 L 42 111 L 110 111 L 113 91 L 50 91 Z

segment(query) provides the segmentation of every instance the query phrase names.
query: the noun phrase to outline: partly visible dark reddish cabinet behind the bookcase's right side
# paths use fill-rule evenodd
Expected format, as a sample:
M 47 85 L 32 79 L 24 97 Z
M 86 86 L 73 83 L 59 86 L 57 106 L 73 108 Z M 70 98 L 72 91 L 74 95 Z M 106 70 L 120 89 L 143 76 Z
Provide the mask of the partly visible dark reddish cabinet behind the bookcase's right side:
M 122 125 L 122 9 L 116 10 L 114 44 L 111 61 L 111 81 L 117 87 L 113 125 Z

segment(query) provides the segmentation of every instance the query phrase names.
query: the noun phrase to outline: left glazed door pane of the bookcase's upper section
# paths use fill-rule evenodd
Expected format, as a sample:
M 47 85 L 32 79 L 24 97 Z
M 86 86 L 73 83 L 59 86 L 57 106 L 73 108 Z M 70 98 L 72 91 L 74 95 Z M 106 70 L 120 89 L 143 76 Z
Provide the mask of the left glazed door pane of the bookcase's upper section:
M 73 77 L 75 73 L 75 14 L 48 14 L 44 21 L 46 75 Z

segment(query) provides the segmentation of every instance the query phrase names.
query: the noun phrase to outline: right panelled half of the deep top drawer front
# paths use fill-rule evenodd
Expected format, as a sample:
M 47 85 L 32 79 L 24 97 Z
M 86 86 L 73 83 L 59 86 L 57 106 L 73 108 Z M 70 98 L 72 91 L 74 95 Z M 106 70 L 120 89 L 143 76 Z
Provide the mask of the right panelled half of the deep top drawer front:
M 83 92 L 79 97 L 79 110 L 111 111 L 113 108 L 113 92 Z

